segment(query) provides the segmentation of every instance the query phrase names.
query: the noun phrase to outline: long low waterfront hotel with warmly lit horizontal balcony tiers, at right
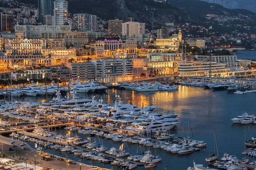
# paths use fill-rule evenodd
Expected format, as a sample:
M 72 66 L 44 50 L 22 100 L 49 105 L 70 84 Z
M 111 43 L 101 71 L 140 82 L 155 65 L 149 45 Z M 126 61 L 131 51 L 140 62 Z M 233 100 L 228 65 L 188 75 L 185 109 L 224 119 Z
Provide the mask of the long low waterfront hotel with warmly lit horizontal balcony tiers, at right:
M 207 62 L 207 61 L 187 61 L 179 62 L 178 76 L 189 77 L 189 76 L 209 76 L 211 70 L 212 77 L 224 77 L 227 74 L 227 68 L 224 63 Z

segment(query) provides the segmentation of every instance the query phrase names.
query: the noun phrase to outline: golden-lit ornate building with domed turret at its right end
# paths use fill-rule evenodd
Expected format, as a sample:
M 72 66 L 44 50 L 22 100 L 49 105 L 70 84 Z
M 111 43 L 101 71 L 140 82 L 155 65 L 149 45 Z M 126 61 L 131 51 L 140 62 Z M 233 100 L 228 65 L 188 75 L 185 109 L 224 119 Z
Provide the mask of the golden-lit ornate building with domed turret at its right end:
M 157 39 L 154 45 L 157 48 L 169 48 L 172 51 L 177 51 L 179 49 L 180 43 L 182 42 L 181 30 L 179 34 L 173 34 L 168 39 Z

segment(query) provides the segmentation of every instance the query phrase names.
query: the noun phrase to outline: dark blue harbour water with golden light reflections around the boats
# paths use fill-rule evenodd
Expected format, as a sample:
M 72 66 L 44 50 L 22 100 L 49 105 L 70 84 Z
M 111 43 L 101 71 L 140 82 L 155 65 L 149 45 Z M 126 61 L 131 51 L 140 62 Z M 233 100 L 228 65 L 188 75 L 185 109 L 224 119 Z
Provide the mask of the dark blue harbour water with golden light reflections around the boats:
M 104 99 L 104 102 L 113 103 L 114 96 L 118 94 L 121 96 L 124 103 L 134 104 L 141 106 L 154 105 L 157 108 L 155 112 L 166 113 L 172 108 L 174 113 L 177 113 L 180 120 L 177 127 L 171 130 L 170 133 L 175 133 L 177 136 L 188 136 L 188 118 L 191 123 L 191 130 L 189 136 L 195 140 L 204 140 L 207 142 L 207 147 L 199 152 L 194 152 L 185 156 L 178 156 L 177 153 L 167 153 L 162 149 L 156 149 L 156 154 L 163 157 L 162 162 L 157 164 L 155 169 L 164 170 L 166 166 L 170 170 L 186 170 L 187 167 L 193 165 L 193 160 L 197 164 L 207 165 L 205 157 L 209 156 L 214 151 L 214 132 L 218 146 L 219 158 L 223 157 L 224 153 L 236 155 L 241 159 L 242 152 L 244 151 L 245 135 L 247 139 L 255 136 L 256 125 L 233 125 L 230 119 L 247 112 L 248 114 L 255 114 L 255 99 L 256 93 L 239 95 L 227 94 L 226 91 L 212 91 L 204 90 L 204 88 L 196 88 L 189 86 L 180 86 L 178 91 L 169 92 L 146 92 L 136 93 L 131 90 L 114 90 L 108 89 L 107 94 L 80 94 L 80 97 L 91 97 L 96 95 L 97 99 Z M 26 97 L 27 101 L 42 101 L 42 97 Z M 44 99 L 45 100 L 45 99 Z M 48 99 L 49 100 L 49 99 Z M 190 127 L 189 127 L 190 129 Z M 66 134 L 65 130 L 59 131 Z M 82 136 L 87 138 L 88 136 Z M 92 138 L 92 141 L 95 138 Z M 99 139 L 96 139 L 99 141 Z M 101 139 L 102 142 L 102 139 Z M 124 149 L 122 142 L 113 142 L 112 140 L 103 139 L 103 145 L 111 148 L 116 147 Z M 131 154 L 137 152 L 136 144 L 129 144 Z M 144 148 L 146 150 L 146 148 Z M 148 149 L 148 148 L 147 148 Z M 143 150 L 143 146 L 138 147 L 139 153 Z M 151 150 L 151 149 L 150 149 Z M 79 157 L 74 157 L 71 154 L 59 153 L 55 150 L 47 150 L 49 153 L 60 155 L 63 157 L 68 156 L 69 159 L 79 160 Z M 152 153 L 155 150 L 152 148 Z M 250 158 L 250 161 L 253 161 Z M 87 160 L 82 160 L 83 163 L 90 164 Z M 101 164 L 93 162 L 93 165 L 102 167 Z M 111 168 L 111 165 L 104 165 L 104 167 Z M 113 169 L 116 169 L 114 167 Z M 138 167 L 138 170 L 144 167 Z

